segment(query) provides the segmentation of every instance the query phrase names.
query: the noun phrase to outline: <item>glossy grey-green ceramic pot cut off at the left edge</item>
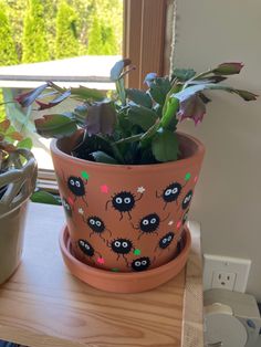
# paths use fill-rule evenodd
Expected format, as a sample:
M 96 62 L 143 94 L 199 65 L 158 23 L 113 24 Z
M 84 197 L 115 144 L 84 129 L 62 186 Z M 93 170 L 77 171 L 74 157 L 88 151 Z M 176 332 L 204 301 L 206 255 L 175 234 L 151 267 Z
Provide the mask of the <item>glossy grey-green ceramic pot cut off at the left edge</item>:
M 25 159 L 21 164 L 21 156 Z M 27 149 L 10 156 L 12 169 L 0 175 L 0 284 L 17 270 L 22 255 L 27 203 L 35 188 L 36 161 Z

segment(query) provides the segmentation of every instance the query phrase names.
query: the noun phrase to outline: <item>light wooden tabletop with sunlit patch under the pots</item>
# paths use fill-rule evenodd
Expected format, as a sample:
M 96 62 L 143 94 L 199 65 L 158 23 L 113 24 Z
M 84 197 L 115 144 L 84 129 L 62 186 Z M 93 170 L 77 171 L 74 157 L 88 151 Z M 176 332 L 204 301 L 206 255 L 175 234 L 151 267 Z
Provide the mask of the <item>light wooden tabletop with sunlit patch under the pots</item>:
M 22 263 L 0 287 L 0 339 L 34 347 L 202 347 L 199 235 L 176 278 L 140 294 L 109 294 L 65 269 L 60 207 L 30 204 Z

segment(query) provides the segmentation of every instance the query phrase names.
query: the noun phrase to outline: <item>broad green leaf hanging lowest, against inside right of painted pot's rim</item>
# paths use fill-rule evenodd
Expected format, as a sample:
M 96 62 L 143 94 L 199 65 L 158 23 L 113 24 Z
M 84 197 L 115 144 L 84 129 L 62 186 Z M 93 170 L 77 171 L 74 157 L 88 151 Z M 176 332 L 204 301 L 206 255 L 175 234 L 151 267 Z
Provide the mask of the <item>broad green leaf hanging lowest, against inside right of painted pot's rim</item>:
M 158 130 L 153 138 L 153 154 L 158 161 L 175 161 L 178 158 L 177 135 L 169 130 Z

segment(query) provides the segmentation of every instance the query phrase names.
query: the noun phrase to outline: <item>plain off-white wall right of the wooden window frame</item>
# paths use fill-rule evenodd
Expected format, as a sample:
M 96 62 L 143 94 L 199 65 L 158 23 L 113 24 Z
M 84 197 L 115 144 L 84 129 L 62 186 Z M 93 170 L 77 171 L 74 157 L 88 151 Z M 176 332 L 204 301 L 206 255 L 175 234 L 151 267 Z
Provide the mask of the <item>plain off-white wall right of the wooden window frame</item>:
M 230 82 L 261 94 L 261 1 L 177 0 L 175 66 L 200 72 L 229 61 L 246 64 Z M 211 95 L 203 123 L 181 126 L 207 147 L 190 215 L 201 221 L 206 253 L 252 260 L 248 292 L 261 299 L 261 97 Z

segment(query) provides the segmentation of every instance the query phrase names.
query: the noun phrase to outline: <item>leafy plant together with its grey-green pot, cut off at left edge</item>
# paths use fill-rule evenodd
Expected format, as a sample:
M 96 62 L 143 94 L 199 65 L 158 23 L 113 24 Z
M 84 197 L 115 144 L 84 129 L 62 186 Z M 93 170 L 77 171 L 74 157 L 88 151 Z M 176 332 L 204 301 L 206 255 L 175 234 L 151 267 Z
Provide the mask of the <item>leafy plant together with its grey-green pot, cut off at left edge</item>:
M 22 255 L 27 203 L 36 180 L 30 146 L 10 120 L 0 123 L 0 284 L 13 274 Z

